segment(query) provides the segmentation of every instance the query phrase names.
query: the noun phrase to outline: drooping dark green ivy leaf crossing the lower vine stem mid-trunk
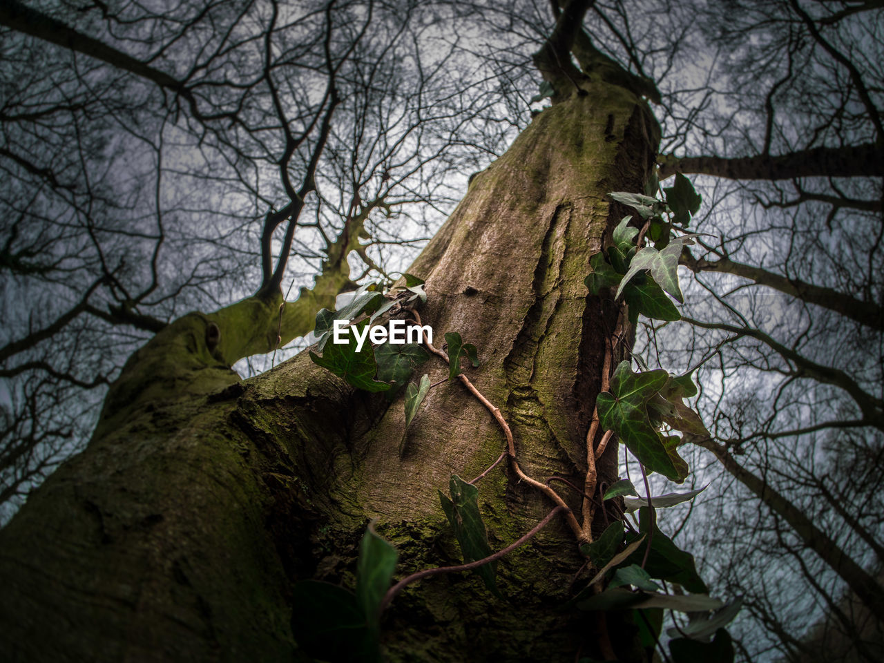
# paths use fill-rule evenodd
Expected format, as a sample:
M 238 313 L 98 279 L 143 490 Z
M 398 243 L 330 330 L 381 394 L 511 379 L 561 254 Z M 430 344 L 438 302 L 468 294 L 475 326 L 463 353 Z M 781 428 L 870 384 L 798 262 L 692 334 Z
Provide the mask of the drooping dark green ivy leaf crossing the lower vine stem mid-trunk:
M 491 555 L 492 549 L 488 545 L 488 532 L 482 522 L 482 514 L 479 513 L 479 489 L 463 481 L 456 474 L 451 476 L 448 487 L 451 490 L 451 499 L 439 491 L 439 502 L 442 504 L 442 510 L 445 512 L 448 522 L 454 529 L 454 536 L 461 544 L 463 561 L 470 562 L 488 557 Z M 494 580 L 497 562 L 483 564 L 474 570 L 484 581 L 485 587 L 499 597 L 500 592 Z

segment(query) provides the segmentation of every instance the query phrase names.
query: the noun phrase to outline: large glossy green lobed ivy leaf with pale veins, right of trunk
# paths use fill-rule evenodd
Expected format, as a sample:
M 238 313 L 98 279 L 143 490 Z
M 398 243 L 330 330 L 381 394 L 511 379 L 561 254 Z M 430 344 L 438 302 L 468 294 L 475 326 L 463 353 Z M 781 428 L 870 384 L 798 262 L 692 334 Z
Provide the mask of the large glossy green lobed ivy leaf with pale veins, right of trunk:
M 611 378 L 611 392 L 598 394 L 596 406 L 601 425 L 613 430 L 645 468 L 681 484 L 687 464 L 667 446 L 648 417 L 648 401 L 666 384 L 667 372 L 633 373 L 629 362 L 620 362 Z

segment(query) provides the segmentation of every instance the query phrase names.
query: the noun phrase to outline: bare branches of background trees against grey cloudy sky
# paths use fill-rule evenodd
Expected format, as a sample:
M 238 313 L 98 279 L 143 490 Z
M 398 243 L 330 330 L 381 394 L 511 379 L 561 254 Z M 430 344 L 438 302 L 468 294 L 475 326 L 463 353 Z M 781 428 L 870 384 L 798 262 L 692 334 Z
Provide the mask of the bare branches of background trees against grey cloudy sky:
M 626 340 L 692 372 L 711 433 L 681 447 L 711 486 L 660 521 L 743 597 L 737 659 L 881 659 L 880 2 L 3 0 L 0 26 L 4 522 L 145 341 L 252 297 L 271 313 L 222 363 L 296 354 L 585 78 L 651 102 L 660 187 L 703 196 L 681 319 Z

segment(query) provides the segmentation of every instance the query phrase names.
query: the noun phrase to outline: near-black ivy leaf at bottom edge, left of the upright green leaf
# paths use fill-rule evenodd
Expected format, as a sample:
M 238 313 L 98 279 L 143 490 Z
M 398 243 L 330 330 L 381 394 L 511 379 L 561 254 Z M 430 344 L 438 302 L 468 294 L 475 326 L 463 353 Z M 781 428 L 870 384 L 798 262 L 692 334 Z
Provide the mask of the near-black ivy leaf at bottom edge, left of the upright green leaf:
M 347 663 L 379 661 L 377 635 L 369 629 L 353 592 L 318 580 L 294 583 L 292 631 L 311 657 Z

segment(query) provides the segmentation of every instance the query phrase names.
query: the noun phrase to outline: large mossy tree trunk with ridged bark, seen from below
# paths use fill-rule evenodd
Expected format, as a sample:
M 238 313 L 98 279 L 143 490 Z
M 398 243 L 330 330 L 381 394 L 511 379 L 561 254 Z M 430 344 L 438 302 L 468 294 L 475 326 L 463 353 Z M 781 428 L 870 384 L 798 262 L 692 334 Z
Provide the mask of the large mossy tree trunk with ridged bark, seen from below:
M 544 110 L 476 177 L 410 269 L 426 278 L 422 316 L 436 338 L 459 331 L 479 348 L 469 377 L 502 410 L 522 469 L 539 481 L 583 485 L 618 315 L 587 295 L 583 278 L 621 217 L 606 193 L 642 190 L 658 140 L 646 104 L 606 83 Z M 278 304 L 251 302 L 270 311 L 253 318 L 266 343 Z M 371 518 L 399 548 L 399 576 L 460 562 L 437 491 L 503 450 L 488 411 L 456 381 L 439 385 L 401 444 L 401 395 L 387 403 L 354 392 L 306 354 L 240 382 L 213 334 L 235 344 L 252 331 L 241 311 L 224 312 L 186 316 L 134 355 L 88 449 L 0 531 L 4 659 L 300 659 L 292 583 L 352 588 Z M 435 357 L 423 369 L 433 382 L 447 374 Z M 616 477 L 616 452 L 607 447 L 600 480 Z M 494 549 L 552 507 L 504 465 L 478 487 Z M 579 496 L 562 496 L 579 514 Z M 504 598 L 474 575 L 409 586 L 385 615 L 387 659 L 596 652 L 594 624 L 553 612 L 583 563 L 575 543 L 558 521 L 507 556 Z M 629 659 L 628 638 L 613 639 Z

